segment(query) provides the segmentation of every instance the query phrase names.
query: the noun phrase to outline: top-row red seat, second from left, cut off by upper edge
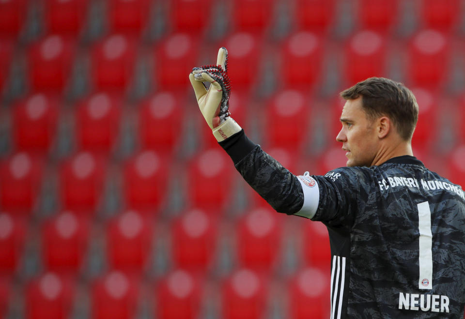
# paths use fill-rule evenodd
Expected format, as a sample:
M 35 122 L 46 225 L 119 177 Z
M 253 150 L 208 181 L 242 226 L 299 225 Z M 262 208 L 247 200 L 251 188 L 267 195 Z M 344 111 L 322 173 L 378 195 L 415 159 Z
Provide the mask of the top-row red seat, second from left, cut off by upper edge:
M 89 0 L 44 1 L 44 23 L 49 34 L 78 38 L 82 32 Z

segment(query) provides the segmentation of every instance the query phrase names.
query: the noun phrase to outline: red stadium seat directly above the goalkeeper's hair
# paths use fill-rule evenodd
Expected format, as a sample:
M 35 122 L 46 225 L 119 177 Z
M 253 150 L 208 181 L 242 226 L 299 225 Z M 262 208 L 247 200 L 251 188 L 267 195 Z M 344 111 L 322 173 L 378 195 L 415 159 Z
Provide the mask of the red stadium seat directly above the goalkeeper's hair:
M 372 76 L 386 76 L 385 38 L 376 32 L 362 30 L 354 34 L 346 45 L 344 58 L 348 85 Z

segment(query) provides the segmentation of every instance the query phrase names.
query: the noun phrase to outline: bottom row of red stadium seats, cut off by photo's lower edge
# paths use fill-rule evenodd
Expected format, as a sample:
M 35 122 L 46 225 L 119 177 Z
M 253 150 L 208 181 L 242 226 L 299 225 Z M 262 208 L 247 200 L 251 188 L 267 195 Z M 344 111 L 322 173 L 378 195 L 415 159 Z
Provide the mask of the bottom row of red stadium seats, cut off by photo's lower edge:
M 219 308 L 219 318 L 264 318 L 268 311 L 281 307 L 284 318 L 327 318 L 329 316 L 329 275 L 318 268 L 303 268 L 282 280 L 282 291 L 270 293 L 272 278 L 247 268 L 224 277 L 217 292 L 206 291 L 208 282 L 184 269 L 173 270 L 150 284 L 149 293 L 141 290 L 141 280 L 120 271 L 95 278 L 86 289 L 89 316 L 94 319 L 136 318 L 141 299 L 150 303 L 152 318 L 201 318 L 212 303 Z M 0 281 L 0 293 L 8 301 L 11 293 L 7 281 Z M 211 290 L 211 289 L 210 289 Z M 207 300 L 207 298 L 214 298 Z M 42 273 L 24 289 L 25 317 L 69 318 L 77 302 L 77 285 L 73 278 L 53 272 Z M 288 306 L 284 306 L 284 302 Z M 2 304 L 3 313 L 8 304 Z M 1 313 L 0 313 L 1 316 Z

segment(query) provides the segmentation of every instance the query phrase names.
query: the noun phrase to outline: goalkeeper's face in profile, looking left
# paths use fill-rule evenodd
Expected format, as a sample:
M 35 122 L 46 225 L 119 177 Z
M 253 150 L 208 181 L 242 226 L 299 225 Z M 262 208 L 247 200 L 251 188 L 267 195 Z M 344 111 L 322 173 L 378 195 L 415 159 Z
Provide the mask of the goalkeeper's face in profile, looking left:
M 372 166 L 379 147 L 376 126 L 367 119 L 361 103 L 361 97 L 346 101 L 340 119 L 342 129 L 336 137 L 351 167 Z

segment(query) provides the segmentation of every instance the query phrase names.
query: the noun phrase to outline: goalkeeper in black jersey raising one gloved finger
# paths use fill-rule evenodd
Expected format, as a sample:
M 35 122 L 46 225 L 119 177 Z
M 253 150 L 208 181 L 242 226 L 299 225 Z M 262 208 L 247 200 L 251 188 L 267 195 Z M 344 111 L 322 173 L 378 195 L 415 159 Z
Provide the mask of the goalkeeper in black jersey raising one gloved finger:
M 327 227 L 331 318 L 464 317 L 465 193 L 413 156 L 418 104 L 409 89 L 372 77 L 342 91 L 336 139 L 347 167 L 295 176 L 231 118 L 226 48 L 189 79 L 245 181 L 277 212 Z

